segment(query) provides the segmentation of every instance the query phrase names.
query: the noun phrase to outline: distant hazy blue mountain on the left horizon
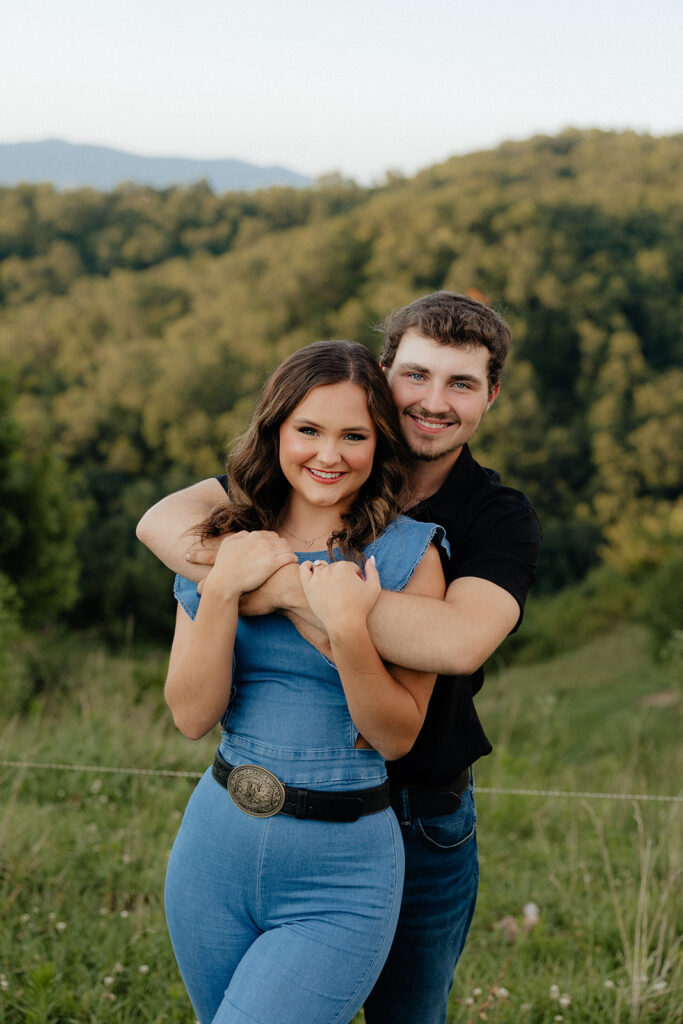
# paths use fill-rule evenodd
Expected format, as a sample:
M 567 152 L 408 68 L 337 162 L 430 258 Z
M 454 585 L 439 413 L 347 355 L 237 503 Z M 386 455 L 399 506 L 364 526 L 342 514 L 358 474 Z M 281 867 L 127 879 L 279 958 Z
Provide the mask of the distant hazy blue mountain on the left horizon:
M 305 187 L 311 179 L 285 167 L 258 167 L 241 160 L 140 157 L 103 145 L 61 139 L 0 142 L 0 184 L 49 181 L 56 188 L 90 186 L 109 191 L 123 181 L 166 188 L 206 178 L 214 191 L 251 190 L 270 185 Z

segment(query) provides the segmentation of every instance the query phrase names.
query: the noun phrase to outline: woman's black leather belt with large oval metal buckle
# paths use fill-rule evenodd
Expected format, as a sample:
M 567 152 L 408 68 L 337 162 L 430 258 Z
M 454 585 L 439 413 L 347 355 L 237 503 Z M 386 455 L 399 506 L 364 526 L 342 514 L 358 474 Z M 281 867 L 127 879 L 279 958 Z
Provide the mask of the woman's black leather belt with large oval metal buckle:
M 389 783 L 370 790 L 297 790 L 284 785 L 276 775 L 260 765 L 233 767 L 216 754 L 211 773 L 232 801 L 252 817 L 269 818 L 291 814 L 295 818 L 321 821 L 357 821 L 364 814 L 376 814 L 389 806 Z

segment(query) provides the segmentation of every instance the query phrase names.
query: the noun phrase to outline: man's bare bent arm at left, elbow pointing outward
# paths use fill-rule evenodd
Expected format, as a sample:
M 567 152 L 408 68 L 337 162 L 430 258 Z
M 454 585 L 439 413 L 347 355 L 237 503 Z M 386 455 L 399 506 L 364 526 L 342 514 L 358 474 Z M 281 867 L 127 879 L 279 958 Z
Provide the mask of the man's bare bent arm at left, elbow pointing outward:
M 221 501 L 225 501 L 225 492 L 216 479 L 168 495 L 144 513 L 137 524 L 137 538 L 174 572 L 199 583 L 211 566 L 186 560 L 187 549 L 197 541 L 191 530 Z

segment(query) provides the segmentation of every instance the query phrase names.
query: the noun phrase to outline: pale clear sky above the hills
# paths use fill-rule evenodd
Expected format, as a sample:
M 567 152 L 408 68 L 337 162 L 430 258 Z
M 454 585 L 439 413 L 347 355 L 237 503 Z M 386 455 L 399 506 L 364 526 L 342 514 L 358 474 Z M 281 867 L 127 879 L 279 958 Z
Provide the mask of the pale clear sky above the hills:
M 680 0 L 17 0 L 0 141 L 362 184 L 565 127 L 683 130 Z

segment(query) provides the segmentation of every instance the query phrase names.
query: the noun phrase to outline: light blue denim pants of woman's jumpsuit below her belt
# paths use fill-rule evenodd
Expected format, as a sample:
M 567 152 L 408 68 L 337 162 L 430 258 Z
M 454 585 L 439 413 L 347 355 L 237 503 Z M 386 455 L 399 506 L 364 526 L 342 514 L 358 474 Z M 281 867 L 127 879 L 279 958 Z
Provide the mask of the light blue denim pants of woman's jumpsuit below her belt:
M 393 811 L 343 823 L 254 818 L 207 771 L 165 893 L 200 1024 L 348 1024 L 389 950 L 402 881 Z

